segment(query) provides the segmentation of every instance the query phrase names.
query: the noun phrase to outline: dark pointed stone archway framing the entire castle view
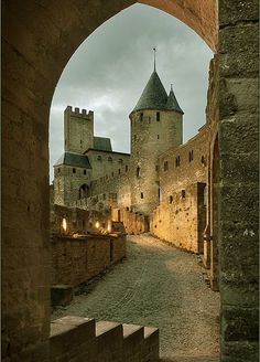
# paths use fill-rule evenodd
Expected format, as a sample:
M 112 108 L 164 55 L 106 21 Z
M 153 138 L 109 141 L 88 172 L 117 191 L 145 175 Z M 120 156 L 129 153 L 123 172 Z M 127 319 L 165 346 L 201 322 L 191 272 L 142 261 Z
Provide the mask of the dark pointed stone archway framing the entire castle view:
M 31 345 L 32 354 L 41 361 L 47 360 L 47 124 L 54 88 L 65 64 L 87 35 L 111 15 L 134 2 L 90 0 L 86 3 L 84 0 L 64 0 L 61 7 L 58 0 L 42 3 L 32 0 L 2 1 L 2 327 L 3 342 L 11 340 L 14 343 L 11 348 L 9 342 L 3 344 L 3 353 L 19 352 L 25 345 Z M 143 3 L 172 13 L 201 34 L 213 50 L 217 49 L 215 1 L 150 0 Z M 239 355 L 245 349 L 247 351 L 247 347 L 252 351 L 254 345 L 248 320 L 256 310 L 252 291 L 254 279 L 250 272 L 251 265 L 256 264 L 252 259 L 257 257 L 257 253 L 250 255 L 250 265 L 247 265 L 249 257 L 243 253 L 247 251 L 246 242 L 250 242 L 253 251 L 258 242 L 254 219 L 258 185 L 257 175 L 251 171 L 258 169 L 256 141 L 252 136 L 257 130 L 253 113 L 257 102 L 245 102 L 241 93 L 248 96 L 250 91 L 251 95 L 254 95 L 256 89 L 253 79 L 258 75 L 258 1 L 219 0 L 218 8 L 220 161 L 225 161 L 224 155 L 236 155 L 232 158 L 227 156 L 228 161 L 220 164 L 220 294 L 224 320 L 221 361 L 226 361 L 226 356 L 228 360 L 230 355 Z M 250 162 L 247 153 L 254 155 Z M 240 169 L 243 169 L 242 173 L 232 171 L 237 170 L 238 163 Z M 230 172 L 234 172 L 235 181 L 229 180 Z M 248 180 L 250 189 L 247 188 Z M 240 192 L 239 207 L 236 206 L 238 201 L 232 201 L 230 196 L 236 189 L 236 182 L 242 184 L 240 191 L 243 190 L 247 195 L 242 198 Z M 247 200 L 251 201 L 250 207 Z M 228 210 L 232 211 L 228 213 Z M 242 220 L 242 223 L 236 224 L 238 220 Z M 234 235 L 237 244 L 234 244 L 234 237 L 231 239 Z M 226 262 L 231 251 L 229 246 L 232 246 L 231 264 Z M 20 257 L 21 251 L 24 258 Z M 30 257 L 32 255 L 33 257 Z M 29 259 L 31 264 L 24 262 Z M 239 269 L 241 262 L 242 272 Z M 235 296 L 240 296 L 237 284 L 243 286 L 242 298 L 231 300 L 234 292 L 230 290 L 235 290 Z M 10 288 L 18 285 L 18 289 Z M 242 316 L 239 318 L 239 328 L 234 324 L 236 320 L 232 313 Z M 13 320 L 17 322 L 13 323 Z M 231 330 L 229 326 L 232 326 Z M 246 345 L 245 339 L 250 339 L 250 343 Z

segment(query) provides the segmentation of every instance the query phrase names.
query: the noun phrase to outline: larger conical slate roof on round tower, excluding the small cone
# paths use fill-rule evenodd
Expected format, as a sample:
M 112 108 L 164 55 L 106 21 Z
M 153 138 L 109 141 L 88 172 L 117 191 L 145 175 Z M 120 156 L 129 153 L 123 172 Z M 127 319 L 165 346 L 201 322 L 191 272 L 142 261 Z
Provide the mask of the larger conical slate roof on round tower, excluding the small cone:
M 148 81 L 143 93 L 138 100 L 133 111 L 141 109 L 164 109 L 167 102 L 167 94 L 164 86 L 154 71 Z

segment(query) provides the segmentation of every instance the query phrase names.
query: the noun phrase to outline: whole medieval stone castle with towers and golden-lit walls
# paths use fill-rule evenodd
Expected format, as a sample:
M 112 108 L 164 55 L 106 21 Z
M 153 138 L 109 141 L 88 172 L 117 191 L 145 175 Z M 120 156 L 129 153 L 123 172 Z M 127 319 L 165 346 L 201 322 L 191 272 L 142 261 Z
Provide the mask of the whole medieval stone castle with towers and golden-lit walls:
M 183 145 L 183 114 L 172 85 L 167 94 L 155 65 L 129 116 L 130 155 L 113 151 L 109 138 L 94 136 L 93 111 L 68 106 L 65 152 L 54 164 L 54 204 L 107 210 L 128 233 L 151 231 L 203 254 L 208 127 Z

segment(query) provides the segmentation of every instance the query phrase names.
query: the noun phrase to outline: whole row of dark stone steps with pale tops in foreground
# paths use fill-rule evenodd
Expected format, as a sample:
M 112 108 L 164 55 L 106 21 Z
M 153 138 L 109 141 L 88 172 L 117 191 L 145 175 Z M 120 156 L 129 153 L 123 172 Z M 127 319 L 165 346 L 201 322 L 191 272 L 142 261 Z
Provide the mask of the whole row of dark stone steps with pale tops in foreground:
M 159 329 L 66 316 L 51 322 L 51 362 L 155 362 Z

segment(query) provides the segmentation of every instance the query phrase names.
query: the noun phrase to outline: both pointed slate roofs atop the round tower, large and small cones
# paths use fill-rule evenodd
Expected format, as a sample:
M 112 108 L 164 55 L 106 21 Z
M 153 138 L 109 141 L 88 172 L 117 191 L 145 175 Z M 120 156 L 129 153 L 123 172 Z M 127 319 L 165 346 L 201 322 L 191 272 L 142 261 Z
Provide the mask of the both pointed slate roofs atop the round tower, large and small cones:
M 183 114 L 173 89 L 171 89 L 167 96 L 156 71 L 153 71 L 150 76 L 142 95 L 132 111 L 142 109 L 176 110 Z

